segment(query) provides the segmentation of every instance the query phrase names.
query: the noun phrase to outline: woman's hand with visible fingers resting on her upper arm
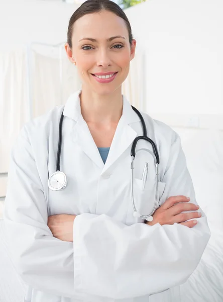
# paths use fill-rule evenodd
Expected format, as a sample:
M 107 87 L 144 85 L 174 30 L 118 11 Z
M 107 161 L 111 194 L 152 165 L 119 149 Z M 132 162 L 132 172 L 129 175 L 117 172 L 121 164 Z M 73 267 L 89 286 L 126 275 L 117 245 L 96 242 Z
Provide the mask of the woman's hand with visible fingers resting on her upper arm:
M 183 211 L 198 210 L 199 206 L 193 203 L 186 203 L 189 200 L 185 196 L 169 197 L 153 214 L 153 221 L 147 221 L 146 224 L 154 225 L 157 222 L 163 224 L 179 223 L 193 228 L 197 220 L 186 220 L 199 218 L 198 212 L 182 213 Z M 184 203 L 182 203 L 184 202 Z M 196 223 L 193 223 L 196 221 Z

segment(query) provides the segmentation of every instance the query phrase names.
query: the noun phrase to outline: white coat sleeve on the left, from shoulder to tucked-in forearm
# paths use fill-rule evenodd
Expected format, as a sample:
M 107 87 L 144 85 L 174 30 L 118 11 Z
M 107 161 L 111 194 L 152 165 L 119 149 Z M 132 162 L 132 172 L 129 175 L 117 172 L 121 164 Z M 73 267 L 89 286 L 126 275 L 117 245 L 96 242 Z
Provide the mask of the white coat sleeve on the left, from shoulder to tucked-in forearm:
M 24 127 L 11 151 L 5 200 L 5 239 L 17 273 L 46 293 L 74 293 L 73 243 L 53 237 L 47 202 Z

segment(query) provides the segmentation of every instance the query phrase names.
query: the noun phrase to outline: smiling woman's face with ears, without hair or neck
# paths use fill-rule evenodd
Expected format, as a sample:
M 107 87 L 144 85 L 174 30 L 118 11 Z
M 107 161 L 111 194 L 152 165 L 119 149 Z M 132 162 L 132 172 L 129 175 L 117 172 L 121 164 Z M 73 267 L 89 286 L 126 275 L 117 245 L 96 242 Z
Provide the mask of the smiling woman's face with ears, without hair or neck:
M 76 62 L 82 87 L 103 95 L 121 89 L 135 56 L 136 40 L 132 47 L 125 21 L 117 15 L 101 11 L 87 14 L 73 26 L 72 49 L 66 43 L 68 58 Z M 97 73 L 113 74 L 100 79 Z M 106 75 L 108 75 L 106 74 Z M 102 77 L 103 78 L 103 77 Z

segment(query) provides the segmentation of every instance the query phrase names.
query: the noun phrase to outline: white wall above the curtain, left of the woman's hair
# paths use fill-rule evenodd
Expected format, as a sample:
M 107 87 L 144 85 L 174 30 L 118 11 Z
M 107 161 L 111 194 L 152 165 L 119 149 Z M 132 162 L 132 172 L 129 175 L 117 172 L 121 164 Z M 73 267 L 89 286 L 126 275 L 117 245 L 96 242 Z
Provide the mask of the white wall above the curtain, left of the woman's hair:
M 71 15 L 80 4 L 49 0 L 0 0 L 0 47 L 65 42 Z

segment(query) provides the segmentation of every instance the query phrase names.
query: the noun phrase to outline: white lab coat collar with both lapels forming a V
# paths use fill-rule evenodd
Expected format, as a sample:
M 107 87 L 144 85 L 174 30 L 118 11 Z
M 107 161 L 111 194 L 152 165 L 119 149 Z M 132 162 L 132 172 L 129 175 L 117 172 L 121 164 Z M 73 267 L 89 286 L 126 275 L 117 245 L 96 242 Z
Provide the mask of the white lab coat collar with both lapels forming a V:
M 84 121 L 80 110 L 80 90 L 71 95 L 64 107 L 63 115 L 76 121 L 73 128 L 72 137 L 81 147 L 83 152 L 99 167 L 101 174 L 107 171 L 125 150 L 132 144 L 137 132 L 131 127 L 131 124 L 139 122 L 140 118 L 133 111 L 129 101 L 123 95 L 123 114 L 118 123 L 116 133 L 110 146 L 105 164 L 100 157 L 98 148 L 92 138 L 87 123 Z M 128 155 L 130 156 L 130 155 Z M 109 172 L 109 171 L 108 171 Z

